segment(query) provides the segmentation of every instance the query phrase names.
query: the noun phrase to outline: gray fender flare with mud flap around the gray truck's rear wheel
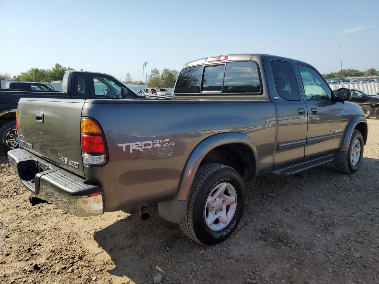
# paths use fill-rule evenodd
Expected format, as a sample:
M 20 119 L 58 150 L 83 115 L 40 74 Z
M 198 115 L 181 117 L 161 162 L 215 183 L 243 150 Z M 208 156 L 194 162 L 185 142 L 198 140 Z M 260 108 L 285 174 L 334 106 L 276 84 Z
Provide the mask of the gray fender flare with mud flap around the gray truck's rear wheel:
M 240 143 L 247 145 L 254 155 L 255 159 L 255 173 L 258 173 L 258 154 L 253 141 L 246 135 L 240 132 L 224 132 L 212 135 L 202 140 L 189 155 L 184 166 L 182 176 L 179 181 L 179 187 L 175 199 L 158 203 L 158 213 L 160 217 L 173 223 L 181 223 L 184 220 L 189 192 L 199 168 L 201 161 L 204 159 L 211 150 L 216 147 Z

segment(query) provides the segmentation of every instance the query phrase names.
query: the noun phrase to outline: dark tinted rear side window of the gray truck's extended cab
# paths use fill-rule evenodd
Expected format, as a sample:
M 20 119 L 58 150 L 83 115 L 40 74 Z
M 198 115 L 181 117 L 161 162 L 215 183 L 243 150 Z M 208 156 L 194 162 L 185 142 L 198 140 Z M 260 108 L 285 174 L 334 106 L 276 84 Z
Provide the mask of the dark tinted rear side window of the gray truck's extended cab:
M 280 97 L 287 101 L 299 101 L 299 87 L 290 62 L 273 60 L 271 66 L 273 67 L 276 90 Z

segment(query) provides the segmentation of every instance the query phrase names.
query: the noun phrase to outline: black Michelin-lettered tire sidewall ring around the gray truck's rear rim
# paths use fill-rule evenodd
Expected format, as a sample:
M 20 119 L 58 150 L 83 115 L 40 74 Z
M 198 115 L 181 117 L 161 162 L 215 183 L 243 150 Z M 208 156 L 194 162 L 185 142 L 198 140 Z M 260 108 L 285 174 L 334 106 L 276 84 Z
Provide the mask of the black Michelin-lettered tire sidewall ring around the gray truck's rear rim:
M 205 223 L 204 209 L 208 195 L 220 183 L 230 183 L 236 190 L 237 206 L 232 220 L 228 225 L 219 231 L 211 230 Z M 220 169 L 210 175 L 200 187 L 199 193 L 195 198 L 193 211 L 193 226 L 195 232 L 201 232 L 197 238 L 204 245 L 213 245 L 226 240 L 235 230 L 241 220 L 245 203 L 245 190 L 241 176 L 233 169 Z

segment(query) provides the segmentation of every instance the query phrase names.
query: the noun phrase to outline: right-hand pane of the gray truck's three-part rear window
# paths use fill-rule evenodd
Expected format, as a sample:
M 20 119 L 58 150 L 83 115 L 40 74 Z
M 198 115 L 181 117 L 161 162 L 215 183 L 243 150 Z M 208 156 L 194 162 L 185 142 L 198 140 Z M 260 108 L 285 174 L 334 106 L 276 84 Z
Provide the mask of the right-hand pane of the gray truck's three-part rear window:
M 260 93 L 258 68 L 254 62 L 226 64 L 224 93 Z

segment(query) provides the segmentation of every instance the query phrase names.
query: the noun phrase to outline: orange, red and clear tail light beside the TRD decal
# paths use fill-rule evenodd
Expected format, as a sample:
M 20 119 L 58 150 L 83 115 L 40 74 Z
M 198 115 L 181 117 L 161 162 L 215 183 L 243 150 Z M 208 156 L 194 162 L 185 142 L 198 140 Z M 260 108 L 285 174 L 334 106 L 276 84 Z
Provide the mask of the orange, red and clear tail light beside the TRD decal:
M 100 126 L 82 117 L 80 123 L 81 156 L 85 165 L 101 165 L 106 161 L 106 149 Z

